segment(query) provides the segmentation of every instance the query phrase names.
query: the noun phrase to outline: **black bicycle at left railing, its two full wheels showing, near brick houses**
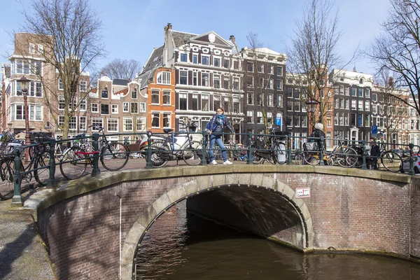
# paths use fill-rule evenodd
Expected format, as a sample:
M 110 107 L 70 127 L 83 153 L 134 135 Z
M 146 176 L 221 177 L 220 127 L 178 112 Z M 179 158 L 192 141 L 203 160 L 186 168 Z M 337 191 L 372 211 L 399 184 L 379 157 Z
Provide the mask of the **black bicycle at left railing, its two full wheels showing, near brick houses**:
M 108 141 L 103 127 L 97 127 L 97 130 L 102 132 L 99 151 L 94 151 L 85 134 L 79 134 L 75 137 L 76 145 L 69 148 L 62 156 L 59 170 L 66 179 L 78 179 L 85 172 L 87 165 L 93 167 L 95 154 L 99 154 L 102 166 L 109 171 L 118 171 L 127 165 L 130 158 L 127 145 Z

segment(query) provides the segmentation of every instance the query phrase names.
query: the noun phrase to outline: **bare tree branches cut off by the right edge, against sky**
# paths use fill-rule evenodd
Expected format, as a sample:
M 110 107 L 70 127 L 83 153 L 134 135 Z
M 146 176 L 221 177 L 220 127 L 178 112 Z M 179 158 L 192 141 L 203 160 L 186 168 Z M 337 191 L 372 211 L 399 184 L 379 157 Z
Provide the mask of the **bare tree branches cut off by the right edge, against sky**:
M 392 0 L 384 33 L 377 36 L 366 54 L 377 70 L 389 71 L 395 87 L 407 88 L 413 103 L 399 98 L 420 114 L 420 3 L 417 0 Z

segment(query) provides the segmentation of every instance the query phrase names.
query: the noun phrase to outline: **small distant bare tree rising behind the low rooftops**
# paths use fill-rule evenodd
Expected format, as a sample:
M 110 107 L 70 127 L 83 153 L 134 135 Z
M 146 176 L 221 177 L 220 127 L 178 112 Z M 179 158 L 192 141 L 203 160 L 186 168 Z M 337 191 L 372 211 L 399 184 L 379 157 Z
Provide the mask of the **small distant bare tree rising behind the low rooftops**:
M 113 59 L 112 62 L 106 64 L 101 74 L 109 76 L 111 80 L 120 78 L 125 80 L 132 80 L 136 74 L 141 71 L 140 62 L 134 59 Z

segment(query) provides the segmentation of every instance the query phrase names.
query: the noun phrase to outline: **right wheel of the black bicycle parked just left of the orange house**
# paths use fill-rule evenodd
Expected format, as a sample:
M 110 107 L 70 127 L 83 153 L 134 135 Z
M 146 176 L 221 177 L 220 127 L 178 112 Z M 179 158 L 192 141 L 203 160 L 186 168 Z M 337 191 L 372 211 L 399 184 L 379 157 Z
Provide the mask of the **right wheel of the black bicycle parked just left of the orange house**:
M 123 143 L 112 143 L 104 146 L 100 153 L 102 165 L 109 171 L 118 171 L 128 162 L 128 148 Z

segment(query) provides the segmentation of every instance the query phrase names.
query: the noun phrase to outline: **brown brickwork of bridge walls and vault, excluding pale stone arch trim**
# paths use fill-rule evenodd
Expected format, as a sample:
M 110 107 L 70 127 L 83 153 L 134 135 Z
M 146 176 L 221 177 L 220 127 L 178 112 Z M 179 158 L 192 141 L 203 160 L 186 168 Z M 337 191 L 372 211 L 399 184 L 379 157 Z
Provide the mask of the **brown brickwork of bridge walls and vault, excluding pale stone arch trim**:
M 276 178 L 293 190 L 311 188 L 311 197 L 304 199 L 304 203 L 313 224 L 314 249 L 332 246 L 337 250 L 420 255 L 419 184 L 411 186 L 313 173 L 266 176 Z M 195 177 L 186 176 L 117 183 L 62 200 L 39 213 L 38 228 L 59 279 L 117 278 L 120 199 L 116 194 L 123 200 L 124 244 L 134 222 L 152 202 L 168 190 L 194 180 Z M 207 187 L 211 188 L 200 186 L 201 189 Z M 297 247 L 304 246 L 300 238 L 303 231 L 299 216 L 274 191 L 231 186 L 190 197 L 188 204 L 192 209 L 194 200 L 204 204 L 205 211 L 203 208 L 201 211 L 207 216 L 223 218 L 225 222 L 258 232 L 264 237 L 273 237 Z M 410 221 L 413 225 L 411 229 Z

